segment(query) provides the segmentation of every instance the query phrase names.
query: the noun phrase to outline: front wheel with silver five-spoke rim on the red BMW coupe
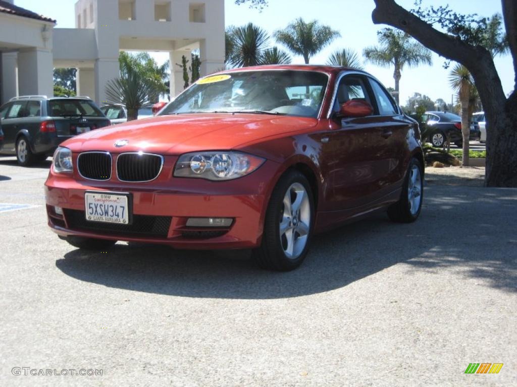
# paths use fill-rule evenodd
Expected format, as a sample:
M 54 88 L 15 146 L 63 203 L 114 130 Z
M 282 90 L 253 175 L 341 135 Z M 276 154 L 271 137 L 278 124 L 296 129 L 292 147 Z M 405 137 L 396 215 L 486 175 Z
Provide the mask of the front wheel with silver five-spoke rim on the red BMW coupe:
M 264 269 L 290 271 L 309 250 L 314 224 L 314 199 L 307 178 L 289 171 L 278 182 L 266 211 L 262 245 L 253 251 Z

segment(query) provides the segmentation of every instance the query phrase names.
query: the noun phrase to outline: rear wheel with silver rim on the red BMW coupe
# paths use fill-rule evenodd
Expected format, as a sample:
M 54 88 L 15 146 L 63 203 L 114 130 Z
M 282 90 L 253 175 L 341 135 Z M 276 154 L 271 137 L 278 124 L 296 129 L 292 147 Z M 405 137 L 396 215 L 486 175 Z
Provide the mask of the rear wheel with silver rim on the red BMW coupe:
M 420 162 L 413 158 L 407 169 L 400 199 L 388 208 L 394 222 L 411 223 L 418 219 L 423 201 L 423 173 Z

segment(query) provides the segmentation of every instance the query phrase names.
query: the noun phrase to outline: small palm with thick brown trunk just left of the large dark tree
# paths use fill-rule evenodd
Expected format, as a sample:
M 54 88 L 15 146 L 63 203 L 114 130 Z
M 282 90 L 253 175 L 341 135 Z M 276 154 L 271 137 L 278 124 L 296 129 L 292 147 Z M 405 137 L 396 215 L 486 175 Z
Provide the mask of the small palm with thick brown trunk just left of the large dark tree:
M 451 88 L 458 93 L 461 104 L 461 133 L 463 135 L 463 165 L 468 166 L 468 140 L 470 137 L 469 99 L 474 80 L 467 68 L 458 63 L 449 74 Z

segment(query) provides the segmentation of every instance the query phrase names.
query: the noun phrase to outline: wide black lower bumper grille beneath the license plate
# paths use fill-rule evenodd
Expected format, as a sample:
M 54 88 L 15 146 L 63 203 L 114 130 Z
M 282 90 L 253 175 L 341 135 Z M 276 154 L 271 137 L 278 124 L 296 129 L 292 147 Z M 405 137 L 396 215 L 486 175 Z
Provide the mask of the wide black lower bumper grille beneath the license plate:
M 71 230 L 113 232 L 166 238 L 171 225 L 171 216 L 133 215 L 131 224 L 112 224 L 89 222 L 84 218 L 84 211 L 64 209 L 65 219 Z

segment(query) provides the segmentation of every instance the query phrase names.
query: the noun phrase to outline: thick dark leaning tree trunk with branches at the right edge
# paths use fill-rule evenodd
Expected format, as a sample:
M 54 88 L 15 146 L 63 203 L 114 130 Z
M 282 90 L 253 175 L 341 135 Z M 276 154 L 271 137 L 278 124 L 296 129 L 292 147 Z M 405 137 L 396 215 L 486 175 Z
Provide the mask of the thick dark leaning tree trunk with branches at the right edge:
M 444 34 L 399 6 L 394 0 L 373 0 L 375 24 L 388 24 L 405 31 L 435 53 L 462 63 L 472 73 L 486 116 L 485 185 L 517 187 L 517 93 L 508 100 L 494 60 L 480 46 Z M 501 0 L 514 71 L 517 74 L 517 3 Z M 515 79 L 517 90 L 517 75 Z

